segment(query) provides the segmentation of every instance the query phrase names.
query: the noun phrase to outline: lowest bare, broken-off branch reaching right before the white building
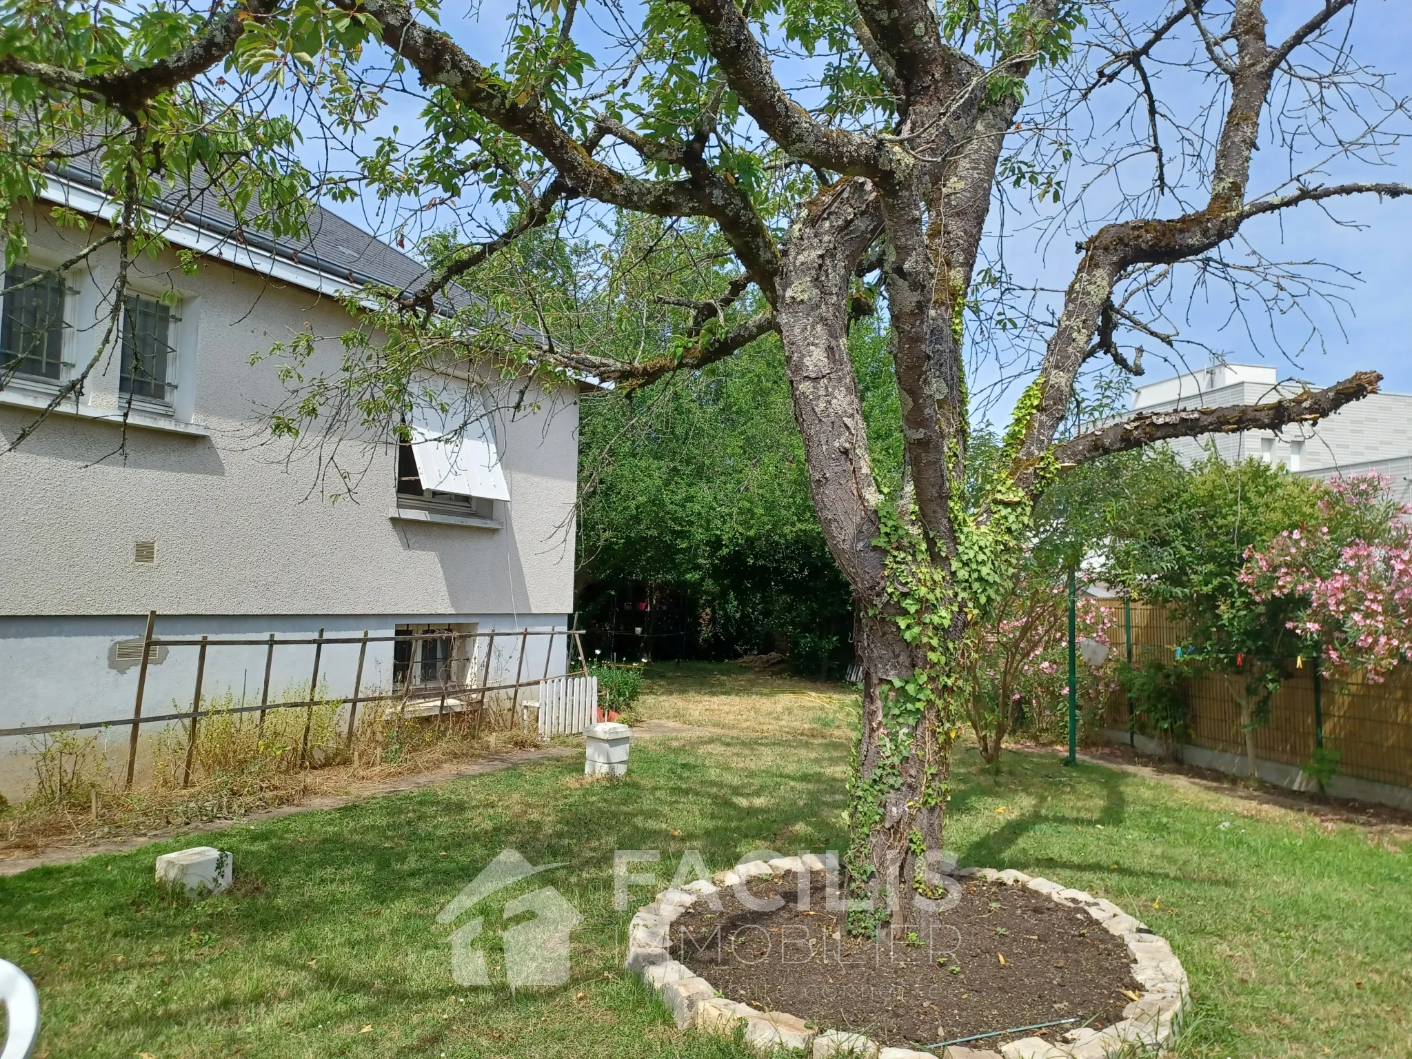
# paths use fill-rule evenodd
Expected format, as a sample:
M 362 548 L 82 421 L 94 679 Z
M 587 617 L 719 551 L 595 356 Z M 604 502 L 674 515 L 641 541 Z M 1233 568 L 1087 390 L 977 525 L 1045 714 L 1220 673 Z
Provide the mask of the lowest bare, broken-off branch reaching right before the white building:
M 1115 452 L 1131 452 L 1172 438 L 1202 433 L 1237 433 L 1240 431 L 1278 431 L 1296 422 L 1317 422 L 1346 404 L 1378 393 L 1382 376 L 1358 371 L 1334 385 L 1268 404 L 1230 404 L 1220 408 L 1178 408 L 1169 412 L 1142 412 L 1110 426 L 1055 446 L 1060 467 L 1073 467 Z

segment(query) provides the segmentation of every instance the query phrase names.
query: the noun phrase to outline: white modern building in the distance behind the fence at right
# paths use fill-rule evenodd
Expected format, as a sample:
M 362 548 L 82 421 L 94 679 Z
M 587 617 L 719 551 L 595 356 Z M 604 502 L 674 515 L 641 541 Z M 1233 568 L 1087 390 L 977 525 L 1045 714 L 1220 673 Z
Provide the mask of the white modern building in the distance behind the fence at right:
M 1309 383 L 1308 388 L 1320 385 L 1326 383 Z M 1267 364 L 1213 364 L 1134 387 L 1132 412 L 1261 404 L 1303 388 L 1293 380 L 1281 381 Z M 1317 424 L 1295 424 L 1281 432 L 1213 433 L 1168 445 L 1185 462 L 1214 446 L 1227 460 L 1254 456 L 1319 479 L 1378 472 L 1392 479 L 1399 500 L 1412 501 L 1412 394 L 1372 394 Z

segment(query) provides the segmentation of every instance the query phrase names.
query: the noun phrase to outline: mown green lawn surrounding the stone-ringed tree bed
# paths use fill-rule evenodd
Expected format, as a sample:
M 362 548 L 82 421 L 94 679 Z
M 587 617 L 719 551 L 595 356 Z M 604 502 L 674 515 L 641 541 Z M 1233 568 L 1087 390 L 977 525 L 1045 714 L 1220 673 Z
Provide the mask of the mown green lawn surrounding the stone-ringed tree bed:
M 689 717 L 652 690 L 647 713 Z M 561 760 L 226 830 L 210 843 L 233 850 L 237 892 L 201 904 L 154 888 L 152 858 L 175 844 L 0 878 L 0 956 L 38 983 L 37 1055 L 55 1059 L 730 1056 L 618 970 L 630 912 L 611 907 L 613 850 L 662 850 L 662 887 L 688 849 L 717 868 L 755 847 L 839 847 L 847 729 L 815 713 L 827 737 L 642 740 L 623 782 L 585 784 Z M 1406 854 L 1101 767 L 1014 754 L 993 778 L 977 764 L 967 753 L 957 770 L 949 844 L 1110 897 L 1166 935 L 1197 1004 L 1180 1055 L 1412 1055 Z M 566 988 L 467 994 L 450 977 L 436 912 L 505 847 L 569 864 L 477 908 L 490 963 L 500 905 L 552 882 L 585 916 Z

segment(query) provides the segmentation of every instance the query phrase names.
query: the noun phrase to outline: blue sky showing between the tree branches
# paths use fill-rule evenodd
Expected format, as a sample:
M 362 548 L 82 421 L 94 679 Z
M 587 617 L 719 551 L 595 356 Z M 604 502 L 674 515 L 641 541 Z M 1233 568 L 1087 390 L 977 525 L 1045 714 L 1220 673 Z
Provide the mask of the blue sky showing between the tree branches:
M 1169 6 L 1171 0 L 1165 3 L 1154 0 L 1151 4 L 1135 3 L 1131 7 L 1139 11 L 1147 7 L 1151 14 L 1161 14 L 1169 10 Z M 1268 0 L 1271 37 L 1282 35 L 1282 31 L 1306 18 L 1317 6 L 1319 0 Z M 489 0 L 474 11 L 446 4 L 442 24 L 472 54 L 493 62 L 500 55 L 505 16 L 510 10 L 508 0 Z M 592 6 L 585 8 L 585 11 L 593 10 Z M 585 23 L 585 16 L 580 16 L 578 27 L 583 34 L 582 40 L 593 51 L 593 30 Z M 1350 44 L 1364 64 L 1391 75 L 1388 90 L 1392 95 L 1412 95 L 1412 4 L 1405 0 L 1361 0 L 1351 24 Z M 795 69 L 801 73 L 808 72 L 805 64 L 781 64 L 778 69 L 784 80 L 788 80 Z M 1158 92 L 1165 92 L 1173 99 L 1173 110 L 1180 120 L 1180 106 L 1185 102 L 1182 96 L 1192 90 L 1195 99 L 1200 83 L 1182 82 L 1179 71 L 1168 71 L 1165 75 L 1158 71 L 1155 76 Z M 1101 109 L 1100 116 L 1103 116 Z M 1401 116 L 1402 130 L 1408 127 L 1406 117 Z M 400 123 L 404 131 L 415 126 L 414 107 L 409 104 L 390 107 L 378 126 L 385 130 L 393 121 Z M 1271 151 L 1267 143 L 1267 150 L 1255 157 L 1251 195 L 1278 185 L 1288 172 L 1289 160 Z M 1334 168 L 1330 181 L 1412 182 L 1412 165 L 1408 164 L 1406 152 L 1394 155 L 1394 160 L 1395 164 L 1391 167 Z M 1127 167 L 1125 178 L 1131 178 L 1135 172 L 1141 179 L 1144 165 L 1147 162 L 1139 161 L 1135 168 Z M 1069 188 L 1076 188 L 1083 181 L 1082 171 L 1070 172 L 1067 176 Z M 1100 185 L 1089 192 L 1087 201 L 1076 205 L 1089 213 L 1099 213 L 1104 203 L 1111 201 L 1111 184 Z M 387 219 L 370 216 L 363 206 L 364 203 L 350 203 L 332 208 L 364 227 L 385 230 Z M 1172 212 L 1171 203 L 1162 209 L 1163 215 Z M 1274 332 L 1248 335 L 1244 328 L 1230 322 L 1228 301 L 1197 299 L 1189 309 L 1176 313 L 1173 322 L 1183 339 L 1204 343 L 1231 361 L 1272 364 L 1282 377 L 1327 384 L 1354 370 L 1374 369 L 1385 376 L 1385 390 L 1412 393 L 1412 323 L 1408 321 L 1408 288 L 1412 285 L 1412 201 L 1380 203 L 1371 196 L 1363 196 L 1339 202 L 1333 212 L 1353 226 L 1340 227 L 1317 206 L 1306 205 L 1285 210 L 1278 219 L 1251 222 L 1245 232 L 1269 257 L 1286 261 L 1317 260 L 1343 270 L 1346 274 L 1340 282 L 1346 284 L 1347 289 L 1341 291 L 1341 297 L 1347 299 L 1347 305 L 1343 306 L 1339 319 L 1334 319 L 1316 299 L 1305 298 L 1295 306 L 1296 312 L 1286 313 L 1275 322 Z M 1017 222 L 1025 219 L 1024 213 L 1011 213 L 1008 230 L 1015 232 Z M 998 213 L 995 220 L 998 223 Z M 1096 229 L 1097 223 L 1070 226 L 1049 243 L 1041 243 L 1036 234 L 1021 230 L 1007 239 L 1007 264 L 1015 280 L 1022 284 L 1062 288 L 1076 261 L 1072 251 L 1075 239 L 1091 234 Z M 474 236 L 474 233 L 467 234 Z M 1056 305 L 1056 297 L 1051 295 L 1048 304 Z M 1306 326 L 1298 319 L 1300 312 L 1308 312 L 1319 323 L 1319 340 L 1303 345 Z M 1284 352 L 1276 339 L 1282 340 Z M 1158 343 L 1144 345 L 1148 349 L 1145 381 L 1162 378 L 1176 370 L 1154 357 L 1161 349 Z M 1204 366 L 1211 359 L 1209 352 L 1200 349 L 1192 349 L 1185 356 L 1190 367 Z M 979 374 L 981 377 L 976 381 L 984 381 L 986 371 L 981 370 Z M 993 415 L 1004 417 L 1008 412 L 1024 380 L 1019 380 L 1008 387 L 1008 393 L 995 402 Z

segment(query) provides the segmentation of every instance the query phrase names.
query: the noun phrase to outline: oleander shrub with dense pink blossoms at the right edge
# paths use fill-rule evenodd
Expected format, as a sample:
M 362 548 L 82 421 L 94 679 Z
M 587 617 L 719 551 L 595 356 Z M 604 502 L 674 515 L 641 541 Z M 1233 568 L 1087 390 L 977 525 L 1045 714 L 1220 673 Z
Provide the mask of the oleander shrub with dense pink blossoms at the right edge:
M 1333 479 L 1317 520 L 1248 549 L 1240 575 L 1257 600 L 1296 603 L 1286 626 L 1310 650 L 1374 682 L 1412 661 L 1412 507 L 1388 484 Z

